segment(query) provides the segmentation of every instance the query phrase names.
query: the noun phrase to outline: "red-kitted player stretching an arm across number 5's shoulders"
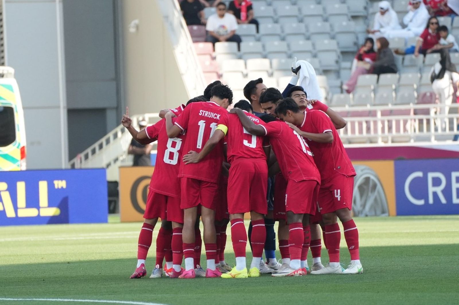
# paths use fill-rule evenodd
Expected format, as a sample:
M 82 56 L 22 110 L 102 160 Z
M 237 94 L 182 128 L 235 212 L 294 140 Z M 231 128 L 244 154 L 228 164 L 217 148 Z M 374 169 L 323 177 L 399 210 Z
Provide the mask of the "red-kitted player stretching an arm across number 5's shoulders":
M 315 213 L 315 202 L 320 185 L 320 174 L 314 164 L 308 144 L 295 131 L 288 130 L 282 121 L 256 125 L 241 109 L 237 114 L 245 130 L 255 136 L 268 136 L 277 157 L 282 175 L 286 177 L 285 211 L 289 223 L 290 265 L 281 267 L 273 276 L 301 276 L 301 252 L 304 243 L 303 223 L 308 225 L 308 214 Z

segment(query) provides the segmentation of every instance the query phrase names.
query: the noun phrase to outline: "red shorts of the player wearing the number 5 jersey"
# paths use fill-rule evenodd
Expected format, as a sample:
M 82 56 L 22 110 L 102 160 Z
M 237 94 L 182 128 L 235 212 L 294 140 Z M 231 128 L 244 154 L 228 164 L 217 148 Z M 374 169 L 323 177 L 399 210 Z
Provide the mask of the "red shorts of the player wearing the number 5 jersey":
M 229 168 L 228 212 L 268 213 L 266 191 L 268 189 L 268 165 L 265 160 L 238 158 Z

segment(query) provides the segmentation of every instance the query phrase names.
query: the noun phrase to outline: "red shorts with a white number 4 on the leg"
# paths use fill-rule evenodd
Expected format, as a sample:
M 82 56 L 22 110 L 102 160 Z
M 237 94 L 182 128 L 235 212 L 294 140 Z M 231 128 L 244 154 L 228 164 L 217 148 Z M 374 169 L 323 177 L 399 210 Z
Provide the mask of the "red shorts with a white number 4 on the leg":
M 337 175 L 320 185 L 319 209 L 321 214 L 336 212 L 342 208 L 352 209 L 354 177 Z

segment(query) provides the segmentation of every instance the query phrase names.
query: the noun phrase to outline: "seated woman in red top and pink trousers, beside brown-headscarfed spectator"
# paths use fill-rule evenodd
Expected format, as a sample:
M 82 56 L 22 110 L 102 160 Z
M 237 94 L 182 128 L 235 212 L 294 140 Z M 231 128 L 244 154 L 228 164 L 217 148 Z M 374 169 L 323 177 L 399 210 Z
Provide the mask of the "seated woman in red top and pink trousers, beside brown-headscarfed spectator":
M 343 89 L 347 93 L 351 93 L 355 89 L 358 76 L 369 73 L 371 64 L 376 61 L 375 41 L 373 38 L 366 38 L 364 45 L 358 50 L 355 55 L 352 74 L 349 80 L 343 85 Z

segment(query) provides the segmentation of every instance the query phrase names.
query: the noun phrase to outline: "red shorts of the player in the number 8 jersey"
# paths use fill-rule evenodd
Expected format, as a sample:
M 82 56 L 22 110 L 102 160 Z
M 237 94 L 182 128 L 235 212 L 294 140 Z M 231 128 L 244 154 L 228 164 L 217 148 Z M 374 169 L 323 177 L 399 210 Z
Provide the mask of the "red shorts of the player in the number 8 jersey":
M 183 210 L 180 208 L 180 198 L 148 190 L 144 218 L 152 219 L 158 217 L 176 223 L 183 223 Z

